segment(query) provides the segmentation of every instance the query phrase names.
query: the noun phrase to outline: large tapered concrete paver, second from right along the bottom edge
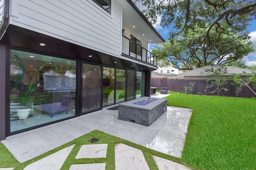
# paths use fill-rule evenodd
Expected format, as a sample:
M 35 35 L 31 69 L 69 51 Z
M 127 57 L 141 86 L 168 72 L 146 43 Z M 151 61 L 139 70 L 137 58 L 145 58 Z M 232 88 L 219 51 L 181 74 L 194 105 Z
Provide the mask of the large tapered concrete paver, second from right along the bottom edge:
M 141 150 L 125 144 L 115 144 L 116 170 L 149 170 Z

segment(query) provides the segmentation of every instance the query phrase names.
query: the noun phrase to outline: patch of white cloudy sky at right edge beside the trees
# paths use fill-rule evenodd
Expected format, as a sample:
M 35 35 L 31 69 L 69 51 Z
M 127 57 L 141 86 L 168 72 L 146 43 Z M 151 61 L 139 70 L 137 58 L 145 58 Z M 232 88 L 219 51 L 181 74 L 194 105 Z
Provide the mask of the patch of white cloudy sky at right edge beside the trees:
M 250 32 L 249 36 L 251 36 L 250 40 L 254 45 L 254 50 L 256 51 L 256 30 Z M 256 52 L 251 52 L 248 56 L 244 57 L 244 64 L 247 66 L 255 66 L 256 65 Z

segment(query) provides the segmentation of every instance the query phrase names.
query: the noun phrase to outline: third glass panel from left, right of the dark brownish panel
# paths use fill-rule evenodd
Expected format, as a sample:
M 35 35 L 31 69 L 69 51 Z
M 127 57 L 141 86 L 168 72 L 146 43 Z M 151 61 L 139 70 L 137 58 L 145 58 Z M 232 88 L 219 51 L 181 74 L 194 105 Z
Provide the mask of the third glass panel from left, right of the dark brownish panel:
M 102 106 L 109 106 L 114 104 L 115 94 L 115 69 L 103 67 L 102 80 Z

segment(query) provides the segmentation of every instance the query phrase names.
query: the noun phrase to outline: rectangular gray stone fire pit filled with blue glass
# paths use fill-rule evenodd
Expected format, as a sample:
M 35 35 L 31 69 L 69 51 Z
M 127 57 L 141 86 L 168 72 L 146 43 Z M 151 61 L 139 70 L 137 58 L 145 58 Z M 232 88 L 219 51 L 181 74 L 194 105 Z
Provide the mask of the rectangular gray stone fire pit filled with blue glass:
M 118 119 L 150 126 L 167 109 L 167 99 L 142 97 L 119 104 Z

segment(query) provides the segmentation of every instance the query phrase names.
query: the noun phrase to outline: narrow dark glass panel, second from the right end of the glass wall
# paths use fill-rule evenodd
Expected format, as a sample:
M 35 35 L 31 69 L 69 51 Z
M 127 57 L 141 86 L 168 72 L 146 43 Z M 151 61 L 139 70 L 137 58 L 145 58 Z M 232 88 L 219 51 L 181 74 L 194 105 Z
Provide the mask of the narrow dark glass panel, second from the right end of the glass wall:
M 135 72 L 127 71 L 127 97 L 126 100 L 133 100 L 135 98 Z

